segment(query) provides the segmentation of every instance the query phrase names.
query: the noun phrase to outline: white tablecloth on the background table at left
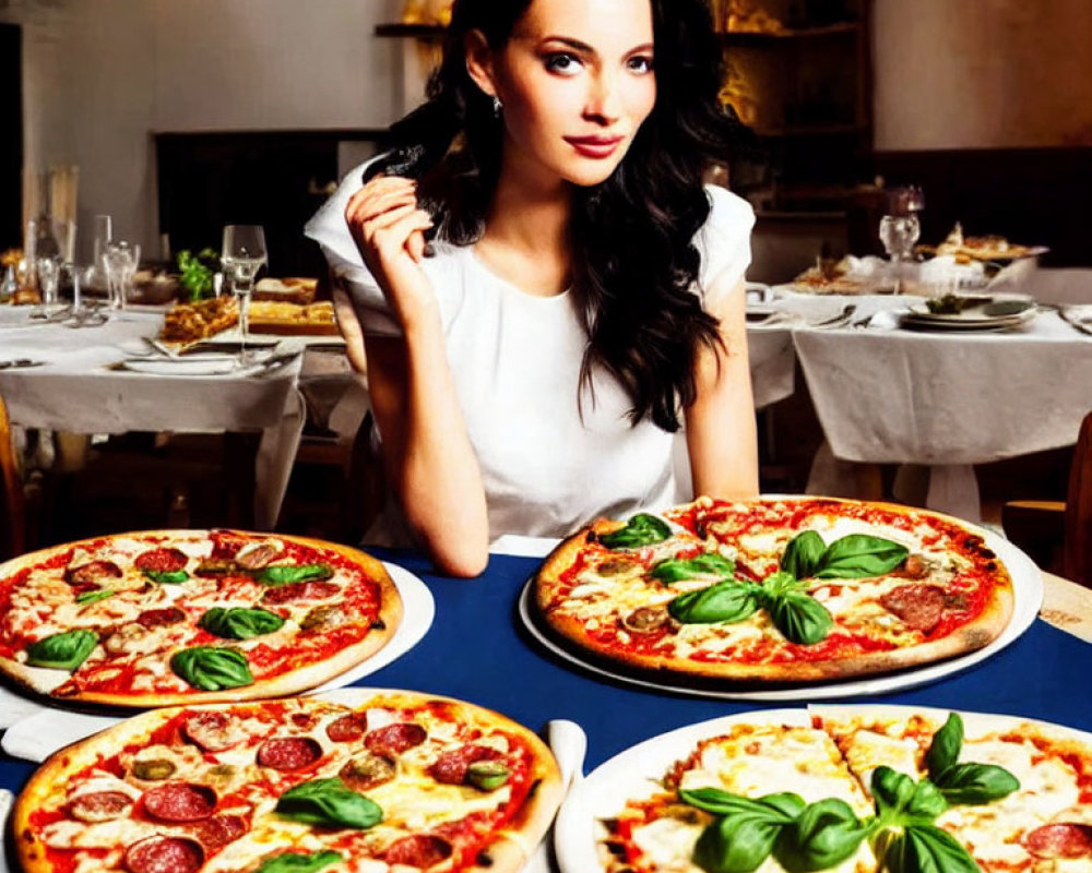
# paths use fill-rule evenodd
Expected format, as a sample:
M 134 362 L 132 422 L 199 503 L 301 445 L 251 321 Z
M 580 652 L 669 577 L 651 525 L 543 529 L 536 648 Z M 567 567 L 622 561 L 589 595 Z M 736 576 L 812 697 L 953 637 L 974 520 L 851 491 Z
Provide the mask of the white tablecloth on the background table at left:
M 27 307 L 0 307 L 0 360 L 45 361 L 0 369 L 0 395 L 16 424 L 73 433 L 261 431 L 254 526 L 271 529 L 304 427 L 299 359 L 261 375 L 149 375 L 111 369 L 146 352 L 163 313 L 114 313 L 100 326 L 32 322 Z

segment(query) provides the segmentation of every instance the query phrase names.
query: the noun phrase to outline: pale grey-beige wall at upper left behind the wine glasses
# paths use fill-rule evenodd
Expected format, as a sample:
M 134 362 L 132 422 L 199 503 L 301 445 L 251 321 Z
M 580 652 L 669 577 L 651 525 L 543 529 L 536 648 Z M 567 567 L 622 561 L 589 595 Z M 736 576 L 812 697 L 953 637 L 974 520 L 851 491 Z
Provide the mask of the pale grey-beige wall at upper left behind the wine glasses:
M 80 167 L 79 223 L 157 252 L 157 131 L 382 128 L 404 103 L 401 0 L 0 0 L 24 26 L 29 169 Z M 82 234 L 78 249 L 90 253 Z

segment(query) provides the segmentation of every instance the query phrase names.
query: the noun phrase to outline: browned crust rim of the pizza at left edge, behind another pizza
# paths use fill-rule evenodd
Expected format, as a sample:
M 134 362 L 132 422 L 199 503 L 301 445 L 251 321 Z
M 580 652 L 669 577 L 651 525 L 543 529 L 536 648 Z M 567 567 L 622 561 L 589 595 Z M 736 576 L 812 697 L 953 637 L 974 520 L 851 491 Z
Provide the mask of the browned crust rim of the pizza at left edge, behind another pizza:
M 177 694 L 170 693 L 105 693 L 98 691 L 84 691 L 71 695 L 55 694 L 55 690 L 63 684 L 71 675 L 61 670 L 49 670 L 43 668 L 28 667 L 12 658 L 0 657 L 0 677 L 10 680 L 16 686 L 29 690 L 37 694 L 49 695 L 55 701 L 70 701 L 75 703 L 99 704 L 104 706 L 120 706 L 127 708 L 146 708 L 156 706 L 176 706 L 181 704 L 204 704 L 221 703 L 232 701 L 252 701 L 266 697 L 281 697 L 297 694 L 309 689 L 323 684 L 345 671 L 366 661 L 376 653 L 390 643 L 403 619 L 402 598 L 391 579 L 387 569 L 380 561 L 377 561 L 363 551 L 353 549 L 340 543 L 327 542 L 309 537 L 290 536 L 286 534 L 264 535 L 247 534 L 244 531 L 232 531 L 244 537 L 253 537 L 256 541 L 265 539 L 277 539 L 285 542 L 293 542 L 306 548 L 324 552 L 334 552 L 340 558 L 347 560 L 355 565 L 368 579 L 378 586 L 380 598 L 380 611 L 378 621 L 382 626 L 373 627 L 367 635 L 336 651 L 330 657 L 314 661 L 306 667 L 293 670 L 282 675 L 270 677 L 268 679 L 257 679 L 253 684 L 242 687 L 224 689 L 222 691 L 200 691 L 191 689 Z M 177 531 L 177 530 L 142 530 L 118 534 L 114 539 L 144 539 L 150 543 L 161 541 L 165 538 L 169 540 L 173 536 L 178 537 L 185 534 L 188 537 L 193 535 L 205 535 L 209 531 Z M 104 539 L 104 538 L 95 538 Z M 75 543 L 79 546 L 79 543 Z M 73 543 L 43 549 L 22 555 L 19 559 L 8 562 L 4 565 L 4 574 L 11 576 L 26 567 L 47 563 L 56 555 L 62 554 L 73 548 Z M 164 659 L 169 660 L 170 653 L 164 654 Z M 169 667 L 167 668 L 169 670 Z

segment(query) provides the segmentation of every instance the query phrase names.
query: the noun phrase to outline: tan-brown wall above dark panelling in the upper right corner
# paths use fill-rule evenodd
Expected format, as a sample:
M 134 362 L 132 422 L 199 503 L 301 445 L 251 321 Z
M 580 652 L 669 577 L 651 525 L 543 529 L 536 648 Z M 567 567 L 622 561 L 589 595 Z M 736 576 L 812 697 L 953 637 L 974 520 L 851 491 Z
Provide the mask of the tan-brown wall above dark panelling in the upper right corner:
M 1092 145 L 1092 2 L 875 0 L 877 151 Z

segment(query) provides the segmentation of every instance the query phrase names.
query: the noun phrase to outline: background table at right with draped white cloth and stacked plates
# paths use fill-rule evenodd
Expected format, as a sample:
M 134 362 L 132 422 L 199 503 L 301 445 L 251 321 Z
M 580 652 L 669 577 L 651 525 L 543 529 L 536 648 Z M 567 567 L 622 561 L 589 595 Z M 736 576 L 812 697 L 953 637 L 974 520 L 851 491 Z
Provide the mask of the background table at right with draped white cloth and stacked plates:
M 749 330 L 791 332 L 826 441 L 808 493 L 875 498 L 859 465 L 924 468 L 927 507 L 980 521 L 974 465 L 1076 442 L 1092 332 L 1066 315 L 1090 308 L 1044 300 L 1005 330 L 929 330 L 906 320 L 925 300 L 780 289 Z

